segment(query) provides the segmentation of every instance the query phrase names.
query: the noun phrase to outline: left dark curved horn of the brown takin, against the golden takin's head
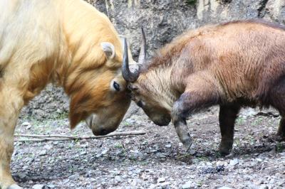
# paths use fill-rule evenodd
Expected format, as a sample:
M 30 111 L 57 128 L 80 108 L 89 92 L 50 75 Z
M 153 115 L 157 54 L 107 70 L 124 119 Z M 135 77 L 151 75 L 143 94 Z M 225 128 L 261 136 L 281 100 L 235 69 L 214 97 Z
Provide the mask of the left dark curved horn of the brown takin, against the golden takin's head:
M 136 70 L 135 72 L 130 71 L 129 67 L 129 58 L 128 58 L 128 44 L 127 39 L 124 38 L 124 55 L 123 55 L 123 68 L 122 74 L 126 81 L 128 82 L 135 82 L 140 75 L 140 72 Z

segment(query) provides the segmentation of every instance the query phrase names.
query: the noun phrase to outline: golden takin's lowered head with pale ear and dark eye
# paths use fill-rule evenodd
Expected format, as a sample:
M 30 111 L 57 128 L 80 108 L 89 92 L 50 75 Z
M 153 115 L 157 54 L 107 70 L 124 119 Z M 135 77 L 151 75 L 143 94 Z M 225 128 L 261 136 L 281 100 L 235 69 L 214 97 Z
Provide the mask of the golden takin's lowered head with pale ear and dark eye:
M 85 120 L 93 134 L 105 135 L 118 128 L 130 106 L 127 82 L 121 74 L 123 48 L 116 41 L 103 42 L 96 50 L 102 64 L 81 64 L 68 76 L 67 93 L 71 97 L 71 129 Z M 128 51 L 128 50 L 127 50 Z M 128 54 L 128 52 L 125 52 Z

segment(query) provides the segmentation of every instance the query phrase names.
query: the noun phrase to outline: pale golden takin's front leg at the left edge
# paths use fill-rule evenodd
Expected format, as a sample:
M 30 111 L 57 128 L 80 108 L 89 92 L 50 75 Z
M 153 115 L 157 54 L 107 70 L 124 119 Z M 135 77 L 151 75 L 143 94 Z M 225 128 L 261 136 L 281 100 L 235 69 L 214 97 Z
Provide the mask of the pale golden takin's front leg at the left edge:
M 0 91 L 0 188 L 19 189 L 11 176 L 10 162 L 14 151 L 14 130 L 24 102 L 16 91 Z

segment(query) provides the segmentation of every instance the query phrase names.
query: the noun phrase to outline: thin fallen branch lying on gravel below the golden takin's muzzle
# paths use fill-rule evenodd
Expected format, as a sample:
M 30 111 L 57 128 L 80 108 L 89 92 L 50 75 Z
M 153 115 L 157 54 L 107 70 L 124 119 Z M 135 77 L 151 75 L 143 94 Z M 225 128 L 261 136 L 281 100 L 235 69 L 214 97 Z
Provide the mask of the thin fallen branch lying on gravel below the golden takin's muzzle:
M 111 136 L 134 136 L 146 134 L 145 131 L 128 131 L 108 134 L 105 136 L 65 136 L 65 135 L 33 135 L 33 134 L 15 134 L 16 137 L 28 137 L 38 139 L 16 139 L 15 141 L 74 141 L 83 139 L 100 139 Z M 57 139 L 55 139 L 57 138 Z

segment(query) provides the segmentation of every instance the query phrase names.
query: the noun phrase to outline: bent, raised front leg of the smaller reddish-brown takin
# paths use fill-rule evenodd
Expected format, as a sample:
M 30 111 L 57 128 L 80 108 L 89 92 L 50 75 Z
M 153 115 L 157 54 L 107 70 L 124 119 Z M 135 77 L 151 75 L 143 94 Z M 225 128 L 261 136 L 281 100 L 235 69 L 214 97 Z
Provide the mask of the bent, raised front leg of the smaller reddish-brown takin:
M 192 145 L 186 123 L 187 117 L 201 109 L 217 104 L 219 100 L 217 87 L 211 85 L 212 82 L 195 78 L 193 82 L 188 83 L 190 83 L 189 86 L 172 107 L 172 122 L 175 131 L 187 151 Z

